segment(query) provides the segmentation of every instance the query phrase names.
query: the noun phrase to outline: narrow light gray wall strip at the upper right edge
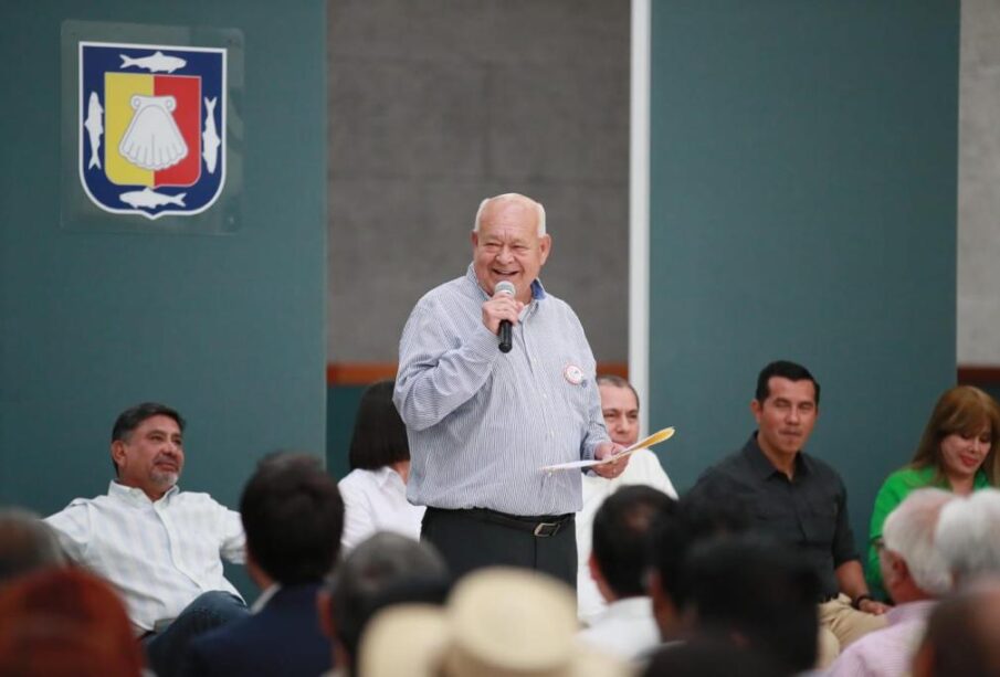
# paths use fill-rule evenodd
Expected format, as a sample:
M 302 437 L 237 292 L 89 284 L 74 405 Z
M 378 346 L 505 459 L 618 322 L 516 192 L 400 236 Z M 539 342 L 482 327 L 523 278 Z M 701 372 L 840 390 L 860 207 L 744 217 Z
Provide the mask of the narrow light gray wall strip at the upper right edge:
M 1000 364 L 1000 0 L 961 3 L 958 362 Z

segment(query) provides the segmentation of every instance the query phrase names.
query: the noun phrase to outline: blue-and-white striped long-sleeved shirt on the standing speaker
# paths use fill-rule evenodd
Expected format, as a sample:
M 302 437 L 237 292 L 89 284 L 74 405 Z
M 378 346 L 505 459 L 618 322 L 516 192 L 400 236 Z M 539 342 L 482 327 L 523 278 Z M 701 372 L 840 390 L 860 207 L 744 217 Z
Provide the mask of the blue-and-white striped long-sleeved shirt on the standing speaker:
M 608 440 L 597 366 L 572 309 L 538 281 L 499 352 L 482 319 L 488 298 L 470 265 L 423 296 L 399 345 L 393 401 L 410 441 L 407 497 L 436 508 L 561 515 L 582 506 L 580 474 Z

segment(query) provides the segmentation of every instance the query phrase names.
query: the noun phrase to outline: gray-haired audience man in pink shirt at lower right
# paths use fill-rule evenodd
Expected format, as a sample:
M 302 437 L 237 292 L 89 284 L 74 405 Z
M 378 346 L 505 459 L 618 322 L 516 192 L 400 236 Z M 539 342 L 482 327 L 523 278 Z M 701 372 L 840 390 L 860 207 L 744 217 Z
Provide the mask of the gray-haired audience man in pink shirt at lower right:
M 948 562 L 935 543 L 938 516 L 955 499 L 941 489 L 917 489 L 885 520 L 878 547 L 886 591 L 896 602 L 888 627 L 849 646 L 831 676 L 891 677 L 907 674 L 927 617 L 938 597 L 951 590 Z

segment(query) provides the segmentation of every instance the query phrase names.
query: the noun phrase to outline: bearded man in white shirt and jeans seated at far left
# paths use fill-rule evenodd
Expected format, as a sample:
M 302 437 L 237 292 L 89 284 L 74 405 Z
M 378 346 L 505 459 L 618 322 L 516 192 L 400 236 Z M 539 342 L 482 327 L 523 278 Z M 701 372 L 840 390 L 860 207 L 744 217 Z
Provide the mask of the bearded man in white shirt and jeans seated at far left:
M 123 412 L 112 430 L 117 477 L 107 495 L 76 498 L 45 520 L 73 561 L 122 595 L 159 677 L 176 674 L 191 637 L 246 615 L 221 559 L 244 560 L 240 515 L 177 488 L 183 427 L 162 404 Z

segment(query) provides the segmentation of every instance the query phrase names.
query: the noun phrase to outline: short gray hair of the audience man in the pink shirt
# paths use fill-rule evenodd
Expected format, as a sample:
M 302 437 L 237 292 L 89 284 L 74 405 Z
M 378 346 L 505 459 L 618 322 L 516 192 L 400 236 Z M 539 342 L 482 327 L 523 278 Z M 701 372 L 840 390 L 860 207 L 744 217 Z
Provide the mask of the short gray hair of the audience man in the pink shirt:
M 934 595 L 951 590 L 951 569 L 934 535 L 941 510 L 952 500 L 955 495 L 944 489 L 917 489 L 890 512 L 882 528 L 886 549 L 903 558 L 920 590 Z

